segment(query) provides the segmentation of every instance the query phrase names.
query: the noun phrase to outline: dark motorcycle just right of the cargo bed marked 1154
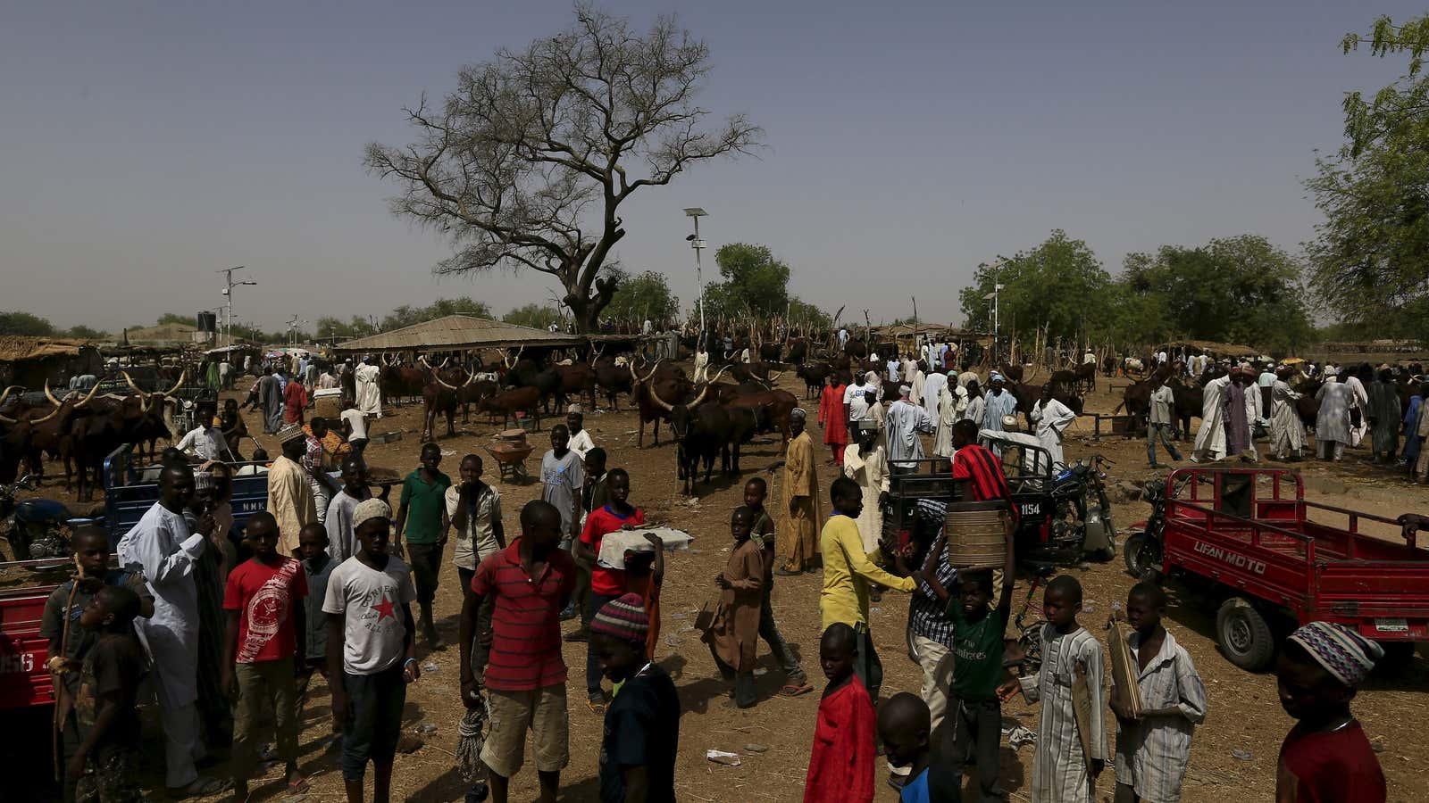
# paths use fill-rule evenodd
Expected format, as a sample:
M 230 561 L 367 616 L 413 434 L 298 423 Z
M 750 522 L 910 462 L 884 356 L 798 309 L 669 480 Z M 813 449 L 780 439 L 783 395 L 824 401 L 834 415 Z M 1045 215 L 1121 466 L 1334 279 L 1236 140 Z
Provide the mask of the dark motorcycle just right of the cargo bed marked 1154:
M 1112 500 L 1106 496 L 1106 472 L 1102 470 L 1110 464 L 1097 454 L 1090 463 L 1077 460 L 1052 477 L 1052 520 L 1046 546 L 1060 557 L 1116 557 L 1116 526 L 1112 523 Z

